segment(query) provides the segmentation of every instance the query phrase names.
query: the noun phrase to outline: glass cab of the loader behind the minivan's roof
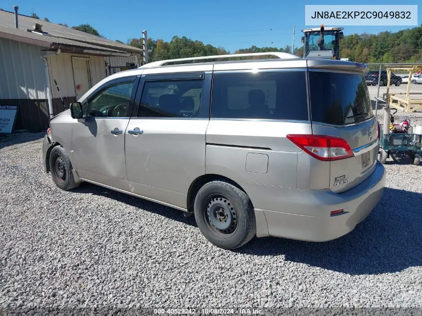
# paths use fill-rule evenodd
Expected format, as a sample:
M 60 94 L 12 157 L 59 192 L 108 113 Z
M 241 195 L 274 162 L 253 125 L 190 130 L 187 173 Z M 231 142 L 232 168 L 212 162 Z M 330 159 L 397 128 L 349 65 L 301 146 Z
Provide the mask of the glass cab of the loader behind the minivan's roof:
M 302 32 L 304 58 L 340 59 L 340 39 L 343 27 L 306 28 Z

